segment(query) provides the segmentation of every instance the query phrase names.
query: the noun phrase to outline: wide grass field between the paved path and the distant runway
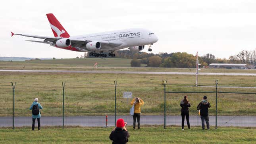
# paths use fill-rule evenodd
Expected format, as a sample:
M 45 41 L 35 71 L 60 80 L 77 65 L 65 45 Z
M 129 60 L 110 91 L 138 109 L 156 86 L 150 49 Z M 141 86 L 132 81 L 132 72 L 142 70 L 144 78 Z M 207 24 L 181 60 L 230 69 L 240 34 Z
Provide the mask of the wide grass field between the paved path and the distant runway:
M 167 79 L 167 91 L 215 91 L 215 87 L 183 87 L 194 85 L 191 75 L 135 75 L 135 74 L 80 74 L 80 73 L 0 73 L 0 116 L 12 115 L 12 88 L 10 82 L 17 82 L 15 92 L 15 116 L 29 116 L 28 110 L 35 97 L 44 107 L 45 116 L 62 115 L 62 85 L 65 86 L 65 115 L 113 115 L 114 80 L 117 80 L 117 114 L 126 115 L 130 105 L 122 98 L 123 92 L 133 92 L 146 104 L 144 115 L 162 115 L 164 111 L 164 89 L 162 81 Z M 221 86 L 255 86 L 252 76 L 200 76 L 199 84 L 214 86 L 219 79 Z M 255 88 L 219 88 L 219 91 L 256 92 Z M 186 93 L 167 94 L 167 114 L 179 115 L 179 102 Z M 196 105 L 207 95 L 215 115 L 215 93 L 187 94 L 191 102 L 191 115 L 196 115 Z M 131 101 L 129 99 L 128 101 Z M 255 94 L 219 94 L 218 115 L 256 115 Z

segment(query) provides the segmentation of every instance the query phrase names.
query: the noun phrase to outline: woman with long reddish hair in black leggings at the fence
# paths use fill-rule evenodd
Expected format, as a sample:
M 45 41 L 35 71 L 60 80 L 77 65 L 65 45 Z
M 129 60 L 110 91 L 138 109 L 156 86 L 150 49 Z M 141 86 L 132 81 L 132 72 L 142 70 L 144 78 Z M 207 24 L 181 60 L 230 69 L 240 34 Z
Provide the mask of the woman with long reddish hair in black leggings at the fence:
M 184 99 L 181 100 L 180 106 L 181 106 L 181 118 L 182 118 L 181 128 L 182 128 L 182 130 L 184 130 L 184 121 L 185 121 L 185 116 L 186 116 L 188 128 L 190 129 L 190 124 L 189 124 L 190 103 L 188 100 L 188 96 L 184 96 Z

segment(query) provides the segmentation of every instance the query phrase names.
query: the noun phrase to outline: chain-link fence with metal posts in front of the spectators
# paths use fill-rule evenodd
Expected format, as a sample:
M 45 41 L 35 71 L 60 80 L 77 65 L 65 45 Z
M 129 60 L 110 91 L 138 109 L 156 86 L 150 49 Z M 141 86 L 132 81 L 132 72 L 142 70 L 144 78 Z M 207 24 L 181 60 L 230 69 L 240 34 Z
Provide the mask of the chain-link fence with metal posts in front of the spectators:
M 14 83 L 13 83 L 14 84 Z M 13 87 L 14 88 L 14 87 Z M 208 97 L 210 127 L 256 127 L 256 89 L 221 88 L 216 86 L 113 86 L 82 87 L 68 85 L 29 88 L 17 83 L 12 87 L 0 88 L 0 127 L 31 126 L 31 106 L 37 97 L 42 105 L 41 126 L 115 126 L 118 118 L 133 125 L 129 114 L 131 100 L 140 97 L 141 125 L 173 125 L 181 127 L 180 102 L 188 96 L 189 121 L 191 127 L 201 126 L 196 106 L 203 96 Z M 124 98 L 124 92 L 131 92 L 132 98 Z M 14 97 L 13 97 L 14 94 Z M 13 99 L 14 98 L 14 99 Z M 217 103 L 216 103 L 217 98 Z M 217 104 L 217 109 L 216 109 Z M 14 107 L 14 109 L 13 109 Z M 14 110 L 14 111 L 13 111 Z M 185 126 L 186 126 L 185 121 Z

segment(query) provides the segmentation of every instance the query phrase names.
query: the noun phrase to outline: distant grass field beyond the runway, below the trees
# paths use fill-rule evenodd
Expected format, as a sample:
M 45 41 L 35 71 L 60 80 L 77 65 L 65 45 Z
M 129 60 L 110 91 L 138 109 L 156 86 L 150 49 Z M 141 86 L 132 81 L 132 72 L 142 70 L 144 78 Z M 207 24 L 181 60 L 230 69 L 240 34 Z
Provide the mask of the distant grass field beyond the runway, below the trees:
M 98 63 L 96 69 L 93 65 Z M 51 69 L 51 70 L 97 70 L 97 71 L 159 71 L 159 72 L 195 72 L 195 68 L 150 68 L 141 65 L 131 67 L 131 59 L 117 58 L 85 58 L 85 59 L 57 59 L 42 61 L 0 61 L 0 69 Z M 118 68 L 114 68 L 118 67 Z M 200 73 L 256 73 L 255 69 L 203 69 Z

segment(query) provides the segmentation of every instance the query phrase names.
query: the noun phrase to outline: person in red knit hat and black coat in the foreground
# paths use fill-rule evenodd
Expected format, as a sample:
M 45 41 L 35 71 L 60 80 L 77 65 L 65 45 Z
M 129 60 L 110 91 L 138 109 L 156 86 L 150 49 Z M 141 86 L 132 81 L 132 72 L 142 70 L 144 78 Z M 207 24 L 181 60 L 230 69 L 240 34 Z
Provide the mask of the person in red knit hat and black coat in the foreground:
M 109 136 L 110 140 L 112 140 L 112 144 L 126 144 L 129 137 L 130 135 L 125 128 L 124 120 L 117 119 L 116 127 Z

